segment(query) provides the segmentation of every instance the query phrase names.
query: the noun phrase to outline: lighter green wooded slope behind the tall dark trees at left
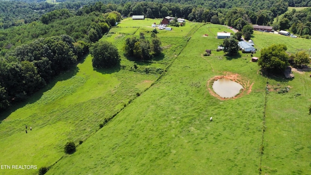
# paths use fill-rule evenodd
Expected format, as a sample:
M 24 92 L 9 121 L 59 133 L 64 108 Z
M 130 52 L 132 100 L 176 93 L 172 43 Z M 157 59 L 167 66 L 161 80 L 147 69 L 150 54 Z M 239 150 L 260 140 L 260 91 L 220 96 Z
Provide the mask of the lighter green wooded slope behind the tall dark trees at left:
M 61 12 L 58 13 L 58 11 Z M 63 11 L 67 11 L 67 17 L 62 16 Z M 48 24 L 35 21 L 0 31 L 0 55 L 5 55 L 16 46 L 28 43 L 38 37 L 70 35 L 75 41 L 95 42 L 112 26 L 115 26 L 116 22 L 120 21 L 121 14 L 118 12 L 106 14 L 92 12 L 88 15 L 78 16 L 74 11 L 61 9 L 46 13 L 42 18 L 51 20 L 46 20 Z

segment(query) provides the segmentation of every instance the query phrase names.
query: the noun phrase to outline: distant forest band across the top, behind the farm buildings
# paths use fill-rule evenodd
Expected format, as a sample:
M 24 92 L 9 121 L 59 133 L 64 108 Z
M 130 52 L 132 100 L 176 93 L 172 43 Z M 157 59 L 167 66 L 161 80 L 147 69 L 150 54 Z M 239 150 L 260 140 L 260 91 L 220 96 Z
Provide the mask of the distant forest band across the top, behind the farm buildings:
M 27 1 L 31 2 L 31 0 Z M 6 3 L 7 5 L 3 5 L 3 9 L 15 10 L 6 10 L 0 13 L 0 15 L 5 16 L 2 18 L 4 22 L 0 22 L 0 27 L 2 26 L 2 28 L 30 23 L 37 20 L 39 16 L 42 16 L 41 21 L 47 24 L 51 20 L 59 20 L 58 18 L 53 18 L 55 16 L 61 17 L 57 13 L 62 14 L 64 18 L 68 18 L 71 13 L 66 10 L 55 11 L 54 15 L 50 14 L 48 16 L 44 13 L 56 9 L 70 9 L 79 15 L 83 13 L 90 14 L 92 12 L 109 13 L 112 11 L 117 11 L 124 16 L 144 15 L 147 18 L 163 18 L 170 15 L 186 18 L 190 21 L 226 24 L 241 30 L 243 25 L 248 23 L 272 25 L 273 18 L 286 12 L 289 4 L 301 6 L 301 4 L 308 4 L 309 2 L 293 2 L 292 0 L 67 0 L 59 4 L 48 4 L 46 2 L 35 3 L 35 6 L 33 4 L 27 5 L 24 2 L 18 2 L 21 5 L 10 5 L 10 2 Z M 83 8 L 80 8 L 82 6 Z M 40 9 L 41 11 L 34 11 L 34 9 Z M 25 10 L 29 13 L 22 12 Z M 15 11 L 18 13 L 15 13 Z M 10 16 L 7 14 L 12 14 L 12 12 L 16 16 L 15 19 L 7 17 Z M 23 14 L 33 15 L 31 18 L 28 18 L 24 17 Z

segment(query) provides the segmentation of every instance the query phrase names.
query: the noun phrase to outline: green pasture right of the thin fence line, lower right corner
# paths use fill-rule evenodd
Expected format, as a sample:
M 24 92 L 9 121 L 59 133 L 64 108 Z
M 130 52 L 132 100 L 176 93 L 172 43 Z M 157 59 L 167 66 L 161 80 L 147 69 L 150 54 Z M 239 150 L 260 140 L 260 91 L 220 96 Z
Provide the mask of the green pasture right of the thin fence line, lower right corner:
M 269 80 L 274 88 L 289 92 L 267 95 L 262 174 L 308 175 L 311 172 L 311 72 L 295 73 L 295 78 Z

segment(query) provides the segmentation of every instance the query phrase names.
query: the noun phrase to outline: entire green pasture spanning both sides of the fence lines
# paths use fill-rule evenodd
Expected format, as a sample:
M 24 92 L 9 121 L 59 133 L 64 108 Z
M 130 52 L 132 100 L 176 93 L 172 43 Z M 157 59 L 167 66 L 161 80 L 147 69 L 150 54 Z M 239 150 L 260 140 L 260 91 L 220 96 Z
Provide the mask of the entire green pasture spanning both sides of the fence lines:
M 250 54 L 228 57 L 215 51 L 223 42 L 217 32 L 230 29 L 191 22 L 159 31 L 165 48 L 161 57 L 145 63 L 126 59 L 122 43 L 139 32 L 149 37 L 154 21 L 127 18 L 102 38 L 119 48 L 122 69 L 93 70 L 89 55 L 25 104 L 4 113 L 0 164 L 54 164 L 47 175 L 311 172 L 311 72 L 294 72 L 293 80 L 263 76 Z M 271 43 L 286 44 L 290 53 L 310 46 L 307 39 L 267 33 L 255 32 L 252 39 L 258 57 Z M 206 49 L 212 54 L 203 57 Z M 165 73 L 131 71 L 134 64 Z M 211 96 L 207 81 L 226 72 L 253 83 L 252 91 L 237 99 Z M 289 92 L 276 92 L 284 87 Z M 98 130 L 104 118 L 116 113 Z M 25 134 L 25 124 L 33 131 Z M 84 142 L 65 155 L 69 140 Z M 0 169 L 4 175 L 36 172 Z

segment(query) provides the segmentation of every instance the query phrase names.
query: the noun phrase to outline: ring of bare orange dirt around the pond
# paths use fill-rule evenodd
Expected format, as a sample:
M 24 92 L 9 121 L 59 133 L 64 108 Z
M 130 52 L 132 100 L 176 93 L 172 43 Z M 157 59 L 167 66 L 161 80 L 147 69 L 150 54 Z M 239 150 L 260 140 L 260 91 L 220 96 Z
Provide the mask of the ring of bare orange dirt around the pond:
M 223 97 L 219 96 L 212 89 L 212 85 L 213 85 L 214 81 L 216 81 L 218 79 L 222 79 L 222 78 L 227 78 L 231 81 L 239 83 L 240 85 L 242 85 L 243 89 L 240 91 L 240 93 L 238 95 L 236 95 L 232 98 L 223 98 Z M 254 83 L 250 83 L 249 80 L 247 80 L 246 78 L 243 78 L 241 75 L 239 75 L 237 73 L 225 72 L 225 75 L 218 75 L 218 76 L 214 76 L 213 78 L 209 79 L 207 81 L 207 90 L 212 96 L 214 96 L 220 100 L 229 100 L 229 99 L 236 99 L 236 98 L 242 97 L 243 95 L 249 94 L 252 91 L 253 85 L 254 85 Z

